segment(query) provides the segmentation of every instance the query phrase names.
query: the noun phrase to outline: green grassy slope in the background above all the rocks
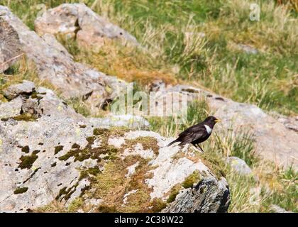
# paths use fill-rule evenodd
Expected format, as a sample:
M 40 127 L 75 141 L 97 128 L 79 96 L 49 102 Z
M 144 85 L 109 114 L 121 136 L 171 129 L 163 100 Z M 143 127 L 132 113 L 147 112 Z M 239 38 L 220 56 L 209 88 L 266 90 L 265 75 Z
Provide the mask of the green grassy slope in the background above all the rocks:
M 35 16 L 44 9 L 39 4 L 52 8 L 62 2 L 78 1 L 1 0 L 32 29 Z M 117 76 L 124 70 L 125 75 L 120 76 L 136 80 L 145 74 L 150 77 L 154 69 L 162 78 L 172 75 L 236 101 L 283 114 L 298 113 L 295 1 L 282 5 L 258 1 L 260 21 L 249 20 L 249 1 L 241 0 L 83 2 L 136 35 L 149 50 L 148 56 L 140 58 L 117 47 L 102 50 L 89 62 L 100 70 Z M 252 45 L 259 52 L 247 54 L 237 48 L 238 44 Z M 115 52 L 121 52 L 121 58 Z M 123 57 L 128 62 L 119 65 L 117 60 Z M 134 68 L 139 66 L 142 72 Z

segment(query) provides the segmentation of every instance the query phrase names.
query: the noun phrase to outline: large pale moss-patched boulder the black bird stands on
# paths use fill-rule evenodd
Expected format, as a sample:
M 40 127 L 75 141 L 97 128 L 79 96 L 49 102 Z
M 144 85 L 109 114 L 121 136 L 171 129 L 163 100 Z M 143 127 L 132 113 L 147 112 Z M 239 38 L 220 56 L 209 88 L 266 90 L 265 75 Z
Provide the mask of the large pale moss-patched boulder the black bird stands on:
M 13 99 L 0 104 L 0 211 L 227 211 L 226 179 L 197 151 L 84 118 L 31 82 L 5 92 Z

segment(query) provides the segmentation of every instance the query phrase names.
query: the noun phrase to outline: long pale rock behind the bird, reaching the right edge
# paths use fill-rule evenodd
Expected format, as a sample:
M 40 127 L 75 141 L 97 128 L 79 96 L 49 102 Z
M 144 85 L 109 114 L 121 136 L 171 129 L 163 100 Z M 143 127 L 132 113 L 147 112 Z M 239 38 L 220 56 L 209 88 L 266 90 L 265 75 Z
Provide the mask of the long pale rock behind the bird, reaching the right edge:
M 297 168 L 298 133 L 294 130 L 294 120 L 282 121 L 281 118 L 266 114 L 258 106 L 238 103 L 188 85 L 169 86 L 164 89 L 158 89 L 155 86 L 155 90 L 160 92 L 158 94 L 160 97 L 168 92 L 184 92 L 188 95 L 189 101 L 206 99 L 211 114 L 222 120 L 218 127 L 220 133 L 223 135 L 226 135 L 227 131 L 252 133 L 255 139 L 255 151 L 258 155 L 277 165 L 285 167 L 294 165 L 294 168 Z

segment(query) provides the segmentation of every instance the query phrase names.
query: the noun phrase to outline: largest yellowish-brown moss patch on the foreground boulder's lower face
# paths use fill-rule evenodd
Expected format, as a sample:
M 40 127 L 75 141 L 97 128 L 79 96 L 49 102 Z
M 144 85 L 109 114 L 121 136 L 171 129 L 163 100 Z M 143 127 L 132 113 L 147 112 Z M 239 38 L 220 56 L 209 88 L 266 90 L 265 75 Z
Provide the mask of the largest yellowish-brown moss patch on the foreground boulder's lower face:
M 140 164 L 131 177 L 125 177 L 127 168 L 136 162 Z M 99 212 L 152 212 L 152 209 L 160 210 L 162 201 L 150 201 L 152 189 L 145 184 L 145 179 L 150 178 L 148 171 L 152 167 L 148 165 L 149 160 L 145 160 L 139 155 L 130 155 L 122 160 L 116 157 L 109 160 L 104 165 L 104 171 L 96 173 L 92 180 L 92 192 L 87 192 L 85 196 L 102 199 L 103 203 L 97 208 Z M 126 202 L 123 201 L 126 195 Z M 148 209 L 148 207 L 152 207 Z

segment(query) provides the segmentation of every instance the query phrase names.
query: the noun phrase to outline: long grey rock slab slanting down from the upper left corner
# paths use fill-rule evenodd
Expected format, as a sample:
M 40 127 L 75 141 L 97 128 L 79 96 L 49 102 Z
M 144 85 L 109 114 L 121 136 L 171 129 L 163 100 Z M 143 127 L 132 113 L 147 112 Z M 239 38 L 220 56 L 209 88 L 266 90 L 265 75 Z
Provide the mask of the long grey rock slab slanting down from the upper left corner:
M 66 99 L 80 97 L 91 111 L 96 111 L 126 87 L 126 83 L 116 77 L 75 62 L 53 35 L 38 36 L 4 6 L 0 6 L 0 19 L 18 34 L 21 50 L 35 62 L 38 77 L 57 87 Z

